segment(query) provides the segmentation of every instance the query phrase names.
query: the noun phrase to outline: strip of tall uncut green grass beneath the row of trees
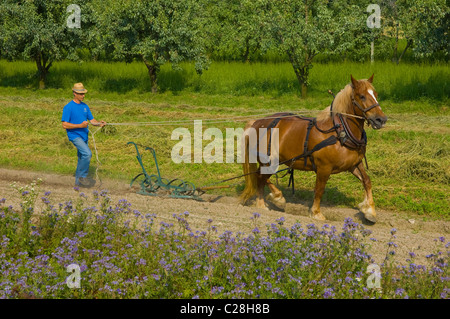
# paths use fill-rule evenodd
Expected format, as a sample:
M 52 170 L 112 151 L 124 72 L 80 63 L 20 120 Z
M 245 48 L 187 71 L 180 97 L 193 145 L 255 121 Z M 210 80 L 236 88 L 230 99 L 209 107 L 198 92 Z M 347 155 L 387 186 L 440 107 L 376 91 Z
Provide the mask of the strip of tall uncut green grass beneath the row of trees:
M 31 62 L 0 61 L 0 87 L 36 88 L 36 70 Z M 426 98 L 447 102 L 450 95 L 450 68 L 447 63 L 400 64 L 316 63 L 310 72 L 309 95 L 328 97 L 327 90 L 337 92 L 355 78 L 368 78 L 375 73 L 381 100 L 396 102 Z M 147 70 L 143 63 L 58 62 L 50 69 L 47 94 L 63 96 L 74 81 L 86 84 L 91 93 L 102 99 L 154 99 L 150 93 Z M 213 62 L 209 70 L 197 75 L 191 63 L 182 63 L 181 70 L 164 65 L 159 74 L 160 92 L 174 95 L 190 92 L 207 95 L 271 96 L 299 93 L 299 85 L 289 63 Z M 50 92 L 48 92 L 50 91 Z M 40 94 L 46 94 L 40 93 Z M 143 95 L 143 96 L 142 96 Z

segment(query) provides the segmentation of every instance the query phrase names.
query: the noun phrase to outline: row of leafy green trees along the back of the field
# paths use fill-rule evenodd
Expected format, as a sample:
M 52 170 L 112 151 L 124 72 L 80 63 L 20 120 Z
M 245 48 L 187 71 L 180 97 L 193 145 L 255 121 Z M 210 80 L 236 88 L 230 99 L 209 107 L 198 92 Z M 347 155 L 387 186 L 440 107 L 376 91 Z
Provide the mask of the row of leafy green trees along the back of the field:
M 371 2 L 3 0 L 0 56 L 35 61 L 41 87 L 53 62 L 80 60 L 82 49 L 93 59 L 140 60 L 156 92 L 159 69 L 167 62 L 177 68 L 181 61 L 195 61 L 201 73 L 211 57 L 250 61 L 271 51 L 292 64 L 302 96 L 318 54 L 357 56 L 370 42 L 389 39 L 396 63 L 410 48 L 417 57 L 438 51 L 448 56 L 446 0 L 381 0 L 378 17 L 367 12 Z M 379 27 L 369 28 L 367 20 L 377 18 Z M 401 39 L 406 47 L 399 52 Z

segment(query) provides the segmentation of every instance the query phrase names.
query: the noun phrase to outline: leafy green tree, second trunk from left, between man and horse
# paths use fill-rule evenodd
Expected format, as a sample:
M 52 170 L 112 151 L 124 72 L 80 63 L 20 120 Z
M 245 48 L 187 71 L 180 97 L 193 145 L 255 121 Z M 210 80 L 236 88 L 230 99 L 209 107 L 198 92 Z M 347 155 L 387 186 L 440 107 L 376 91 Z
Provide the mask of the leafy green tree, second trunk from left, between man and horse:
M 181 61 L 195 60 L 198 73 L 207 67 L 200 6 L 196 0 L 96 1 L 99 50 L 117 60 L 143 61 L 156 93 L 166 62 L 178 68 Z

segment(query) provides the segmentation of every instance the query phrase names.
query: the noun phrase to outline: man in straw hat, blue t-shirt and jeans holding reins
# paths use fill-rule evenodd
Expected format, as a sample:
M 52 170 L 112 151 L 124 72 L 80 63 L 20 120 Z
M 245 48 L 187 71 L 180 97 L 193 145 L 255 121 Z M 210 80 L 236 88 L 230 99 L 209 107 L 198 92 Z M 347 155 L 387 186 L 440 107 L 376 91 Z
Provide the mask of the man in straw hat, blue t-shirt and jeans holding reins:
M 78 164 L 75 172 L 75 185 L 91 187 L 95 180 L 88 179 L 89 165 L 92 152 L 88 146 L 88 121 L 94 126 L 105 126 L 105 121 L 97 121 L 92 116 L 91 110 L 83 102 L 87 90 L 83 83 L 75 83 L 73 88 L 73 100 L 67 103 L 63 109 L 62 127 L 67 131 L 69 141 L 77 148 Z

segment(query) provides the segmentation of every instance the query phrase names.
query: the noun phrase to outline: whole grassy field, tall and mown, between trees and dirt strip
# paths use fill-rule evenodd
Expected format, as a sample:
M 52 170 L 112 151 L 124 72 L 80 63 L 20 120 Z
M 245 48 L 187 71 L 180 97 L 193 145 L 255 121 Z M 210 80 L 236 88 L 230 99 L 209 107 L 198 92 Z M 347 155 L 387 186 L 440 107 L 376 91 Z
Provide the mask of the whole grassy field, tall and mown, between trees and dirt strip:
M 167 65 L 161 71 L 160 93 L 156 95 L 150 93 L 144 65 L 137 62 L 56 63 L 50 69 L 45 90 L 35 89 L 34 72 L 32 63 L 0 61 L 0 166 L 74 173 L 76 151 L 60 120 L 63 106 L 72 97 L 70 88 L 81 81 L 89 90 L 85 102 L 96 119 L 165 124 L 186 120 L 170 125 L 110 126 L 98 132 L 91 128 L 96 132 L 100 177 L 129 181 L 140 172 L 135 150 L 126 145 L 134 141 L 156 149 L 163 176 L 180 177 L 196 186 L 237 176 L 241 166 L 173 163 L 171 149 L 178 143 L 171 140 L 175 128 L 186 127 L 193 132 L 193 120 L 202 119 L 204 130 L 216 127 L 225 134 L 226 128 L 245 125 L 235 120 L 243 115 L 292 111 L 315 116 L 331 102 L 328 89 L 337 93 L 350 81 L 350 74 L 368 78 L 375 73 L 374 85 L 389 117 L 383 130 L 367 129 L 367 159 L 376 205 L 406 214 L 418 213 L 424 218 L 450 219 L 448 64 L 316 64 L 306 99 L 298 97 L 298 84 L 287 63 L 216 62 L 201 76 L 190 64 L 183 64 L 182 70 Z M 144 161 L 151 170 L 150 153 L 145 154 Z M 96 167 L 94 156 L 92 173 Z M 287 189 L 287 177 L 279 180 L 286 197 L 311 203 L 314 174 L 296 173 L 295 178 L 294 196 Z M 243 181 L 236 182 L 241 184 L 213 193 L 238 195 Z M 343 173 L 332 176 L 323 203 L 353 207 L 362 198 L 359 181 Z

